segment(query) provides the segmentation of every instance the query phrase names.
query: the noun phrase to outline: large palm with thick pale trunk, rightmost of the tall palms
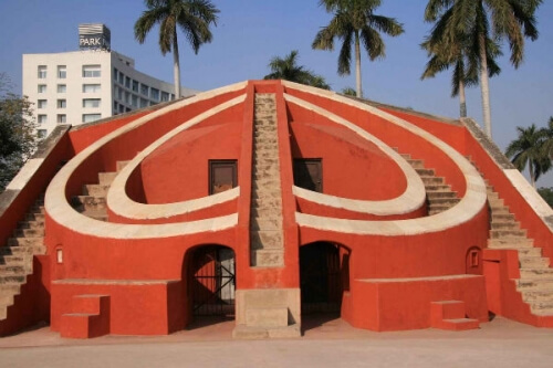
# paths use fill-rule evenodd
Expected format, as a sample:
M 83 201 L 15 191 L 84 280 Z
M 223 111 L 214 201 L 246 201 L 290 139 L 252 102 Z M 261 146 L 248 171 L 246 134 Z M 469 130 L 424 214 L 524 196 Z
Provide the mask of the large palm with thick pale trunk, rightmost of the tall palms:
M 479 64 L 482 112 L 486 133 L 491 138 L 490 93 L 488 83 L 490 29 L 493 40 L 507 39 L 511 63 L 517 69 L 524 56 L 524 38 L 538 39 L 534 12 L 543 0 L 429 0 L 425 20 L 434 22 L 450 17 L 445 22 L 448 34 L 466 34 L 470 40 L 470 56 Z

